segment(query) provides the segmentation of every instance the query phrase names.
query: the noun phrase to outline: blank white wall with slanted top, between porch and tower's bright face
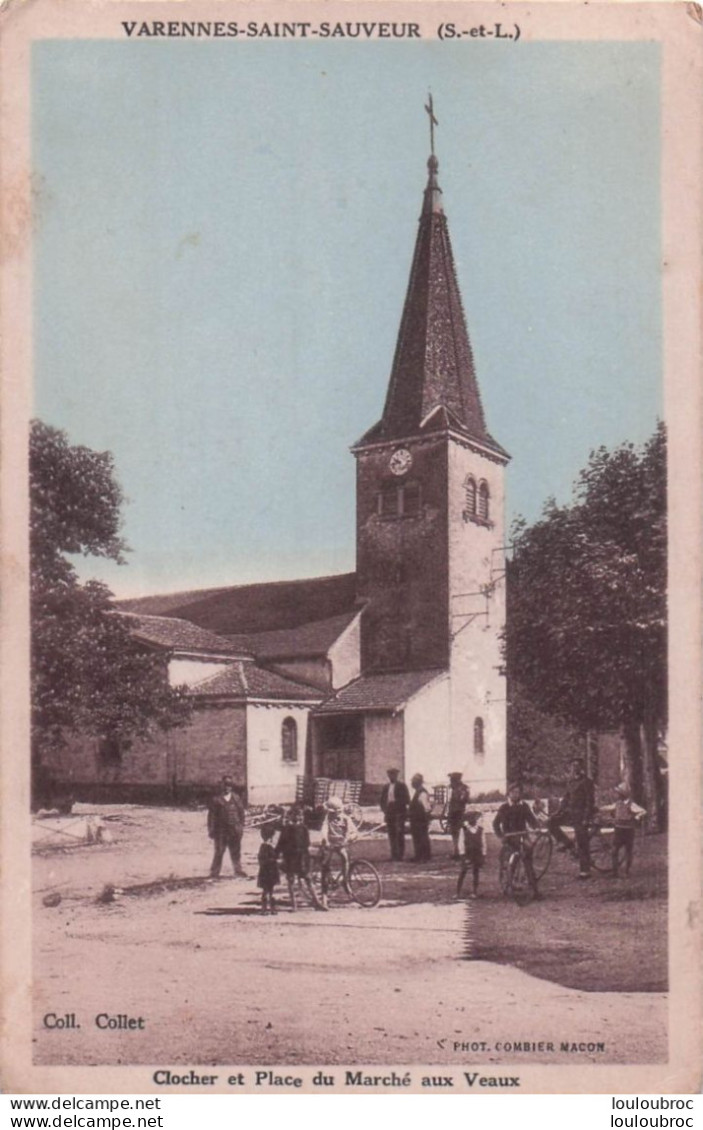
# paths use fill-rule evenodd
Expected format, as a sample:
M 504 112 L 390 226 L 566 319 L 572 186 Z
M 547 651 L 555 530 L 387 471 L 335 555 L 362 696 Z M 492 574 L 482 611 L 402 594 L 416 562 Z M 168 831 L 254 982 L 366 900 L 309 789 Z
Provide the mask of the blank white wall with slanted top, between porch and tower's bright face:
M 424 687 L 405 709 L 405 780 L 422 773 L 425 784 L 446 784 L 446 774 L 461 768 L 453 760 L 450 734 L 450 679 Z

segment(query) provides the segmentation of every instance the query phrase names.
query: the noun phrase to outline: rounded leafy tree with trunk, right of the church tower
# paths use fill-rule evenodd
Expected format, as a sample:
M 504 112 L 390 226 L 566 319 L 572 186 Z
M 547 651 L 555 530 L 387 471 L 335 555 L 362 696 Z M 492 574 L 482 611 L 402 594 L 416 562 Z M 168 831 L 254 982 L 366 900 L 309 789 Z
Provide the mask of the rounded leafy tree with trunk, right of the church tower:
M 513 529 L 509 678 L 581 730 L 620 729 L 635 796 L 657 812 L 667 718 L 666 432 L 600 447 L 574 487 Z

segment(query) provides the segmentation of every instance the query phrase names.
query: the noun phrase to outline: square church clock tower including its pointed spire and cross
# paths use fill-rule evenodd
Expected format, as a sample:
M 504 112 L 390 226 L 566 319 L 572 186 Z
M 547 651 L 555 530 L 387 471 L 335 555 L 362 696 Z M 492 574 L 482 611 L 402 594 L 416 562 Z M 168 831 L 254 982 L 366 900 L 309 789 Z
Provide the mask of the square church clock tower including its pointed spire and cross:
M 353 449 L 361 664 L 448 672 L 427 740 L 441 734 L 449 768 L 488 791 L 505 782 L 510 457 L 486 426 L 432 149 L 383 416 Z

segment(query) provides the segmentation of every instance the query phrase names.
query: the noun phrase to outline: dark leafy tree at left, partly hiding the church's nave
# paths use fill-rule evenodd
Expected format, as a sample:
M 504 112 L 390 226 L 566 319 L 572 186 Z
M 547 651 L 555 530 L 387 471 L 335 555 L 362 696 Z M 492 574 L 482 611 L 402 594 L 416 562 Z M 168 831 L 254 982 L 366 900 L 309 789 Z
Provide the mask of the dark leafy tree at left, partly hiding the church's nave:
M 73 446 L 40 420 L 29 436 L 33 766 L 73 731 L 149 737 L 182 724 L 190 703 L 69 555 L 123 563 L 122 492 L 109 452 Z

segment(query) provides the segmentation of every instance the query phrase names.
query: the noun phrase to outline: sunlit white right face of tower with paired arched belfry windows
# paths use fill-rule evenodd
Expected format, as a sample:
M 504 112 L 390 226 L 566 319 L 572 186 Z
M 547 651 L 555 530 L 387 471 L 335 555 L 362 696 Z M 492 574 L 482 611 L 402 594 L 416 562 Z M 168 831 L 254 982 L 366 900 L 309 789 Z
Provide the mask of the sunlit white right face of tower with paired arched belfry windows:
M 466 479 L 485 479 L 492 525 L 465 521 Z M 455 768 L 474 792 L 505 788 L 506 689 L 501 633 L 505 624 L 504 467 L 458 443 L 449 449 L 451 597 L 450 745 Z M 492 585 L 488 598 L 480 589 Z M 474 596 L 472 596 L 474 594 Z M 484 720 L 483 757 L 474 754 L 474 722 Z

